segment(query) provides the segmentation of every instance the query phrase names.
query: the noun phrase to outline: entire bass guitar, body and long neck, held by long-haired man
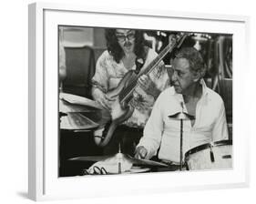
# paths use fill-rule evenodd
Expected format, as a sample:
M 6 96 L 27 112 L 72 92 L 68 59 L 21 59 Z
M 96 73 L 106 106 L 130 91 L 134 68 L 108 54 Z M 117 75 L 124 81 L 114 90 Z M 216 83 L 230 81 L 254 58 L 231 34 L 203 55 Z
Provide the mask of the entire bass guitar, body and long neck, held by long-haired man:
M 94 132 L 94 139 L 97 146 L 104 147 L 108 144 L 115 129 L 119 124 L 131 117 L 134 107 L 129 105 L 129 101 L 133 97 L 133 91 L 138 86 L 138 78 L 142 75 L 148 75 L 152 72 L 164 56 L 171 52 L 175 47 L 181 46 L 187 34 L 176 35 L 172 38 L 168 46 L 166 46 L 147 67 L 141 69 L 136 74 L 134 70 L 128 73 L 119 82 L 118 87 L 107 93 L 108 97 L 113 99 L 111 111 L 104 110 L 99 128 Z

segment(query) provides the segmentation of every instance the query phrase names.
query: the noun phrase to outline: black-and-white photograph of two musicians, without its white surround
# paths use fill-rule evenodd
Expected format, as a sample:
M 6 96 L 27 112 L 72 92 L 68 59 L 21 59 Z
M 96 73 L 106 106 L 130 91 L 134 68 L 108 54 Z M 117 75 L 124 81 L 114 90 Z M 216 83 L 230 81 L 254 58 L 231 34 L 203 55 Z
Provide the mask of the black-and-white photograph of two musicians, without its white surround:
M 59 25 L 58 177 L 233 168 L 230 33 Z

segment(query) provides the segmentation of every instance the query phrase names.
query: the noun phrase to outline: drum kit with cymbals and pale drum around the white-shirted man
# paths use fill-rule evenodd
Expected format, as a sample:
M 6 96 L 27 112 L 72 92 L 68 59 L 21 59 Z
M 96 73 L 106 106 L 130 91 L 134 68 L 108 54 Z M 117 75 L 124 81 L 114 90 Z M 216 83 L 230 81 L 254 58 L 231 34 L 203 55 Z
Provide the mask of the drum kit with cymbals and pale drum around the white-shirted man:
M 182 106 L 181 106 L 182 107 Z M 60 93 L 59 97 L 59 116 L 60 128 L 73 131 L 90 131 L 99 126 L 100 107 L 97 102 L 85 97 Z M 181 112 L 169 116 L 180 120 L 180 159 L 179 170 L 183 170 L 184 163 L 186 170 L 202 169 L 230 169 L 232 168 L 232 141 L 221 140 L 218 142 L 207 143 L 189 149 L 185 154 L 182 152 L 183 139 L 183 120 L 191 120 L 195 117 Z M 185 157 L 184 157 L 185 156 Z M 184 158 L 183 158 L 184 157 Z M 70 158 L 70 161 L 95 162 L 90 168 L 86 169 L 85 174 L 94 174 L 96 169 L 104 174 L 138 173 L 148 172 L 150 168 L 169 168 L 169 164 L 162 161 L 133 158 L 119 151 L 111 156 L 87 156 Z

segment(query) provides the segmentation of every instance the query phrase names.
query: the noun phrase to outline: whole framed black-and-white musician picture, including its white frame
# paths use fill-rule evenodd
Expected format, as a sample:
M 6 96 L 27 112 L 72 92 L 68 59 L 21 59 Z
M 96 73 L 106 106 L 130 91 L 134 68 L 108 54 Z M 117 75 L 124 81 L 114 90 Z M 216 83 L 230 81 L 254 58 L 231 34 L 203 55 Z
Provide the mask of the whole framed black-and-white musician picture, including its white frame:
M 248 27 L 29 5 L 29 198 L 247 187 Z

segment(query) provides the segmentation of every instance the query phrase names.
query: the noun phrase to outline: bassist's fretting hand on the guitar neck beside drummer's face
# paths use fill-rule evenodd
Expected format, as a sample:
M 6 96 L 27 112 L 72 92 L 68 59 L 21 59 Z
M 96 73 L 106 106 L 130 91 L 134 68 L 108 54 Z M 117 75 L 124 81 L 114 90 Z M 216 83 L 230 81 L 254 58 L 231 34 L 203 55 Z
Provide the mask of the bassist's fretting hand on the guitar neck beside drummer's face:
M 148 95 L 154 98 L 159 97 L 160 91 L 156 87 L 155 83 L 148 75 L 142 75 L 138 78 L 138 85 L 141 87 Z

